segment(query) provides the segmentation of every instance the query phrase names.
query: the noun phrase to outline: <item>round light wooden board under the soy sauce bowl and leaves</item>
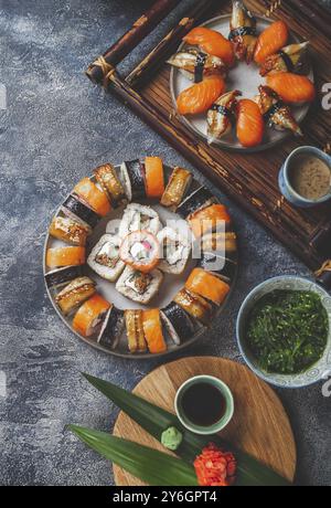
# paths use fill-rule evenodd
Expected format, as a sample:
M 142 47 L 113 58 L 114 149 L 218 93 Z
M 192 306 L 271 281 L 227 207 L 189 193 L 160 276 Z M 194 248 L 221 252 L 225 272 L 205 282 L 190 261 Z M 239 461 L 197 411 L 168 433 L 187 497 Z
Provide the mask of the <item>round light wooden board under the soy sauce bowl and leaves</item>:
M 214 357 L 183 358 L 159 367 L 143 378 L 134 390 L 137 395 L 174 412 L 173 401 L 178 388 L 189 378 L 210 374 L 222 379 L 232 390 L 235 414 L 222 437 L 252 454 L 290 481 L 296 473 L 296 444 L 285 409 L 276 393 L 246 367 Z M 158 448 L 164 447 L 120 413 L 114 434 Z M 118 486 L 146 485 L 117 466 L 114 466 Z

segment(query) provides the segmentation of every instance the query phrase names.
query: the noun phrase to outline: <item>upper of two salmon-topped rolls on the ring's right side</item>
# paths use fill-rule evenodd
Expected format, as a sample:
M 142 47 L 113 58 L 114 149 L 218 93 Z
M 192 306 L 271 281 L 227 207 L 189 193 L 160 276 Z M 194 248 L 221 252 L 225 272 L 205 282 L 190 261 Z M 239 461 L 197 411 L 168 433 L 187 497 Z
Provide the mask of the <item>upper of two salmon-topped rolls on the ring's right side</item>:
M 195 237 L 200 237 L 210 230 L 217 229 L 221 222 L 229 223 L 231 218 L 224 204 L 215 203 L 192 213 L 188 219 Z

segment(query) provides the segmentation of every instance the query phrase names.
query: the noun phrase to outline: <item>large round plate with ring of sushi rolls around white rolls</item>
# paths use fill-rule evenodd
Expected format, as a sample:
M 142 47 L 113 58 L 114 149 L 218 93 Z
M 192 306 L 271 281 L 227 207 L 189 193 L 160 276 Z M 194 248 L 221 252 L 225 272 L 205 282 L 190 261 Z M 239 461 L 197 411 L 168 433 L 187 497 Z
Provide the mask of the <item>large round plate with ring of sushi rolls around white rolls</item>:
M 104 165 L 52 219 L 49 297 L 90 346 L 145 359 L 203 336 L 233 290 L 237 239 L 225 205 L 158 157 Z

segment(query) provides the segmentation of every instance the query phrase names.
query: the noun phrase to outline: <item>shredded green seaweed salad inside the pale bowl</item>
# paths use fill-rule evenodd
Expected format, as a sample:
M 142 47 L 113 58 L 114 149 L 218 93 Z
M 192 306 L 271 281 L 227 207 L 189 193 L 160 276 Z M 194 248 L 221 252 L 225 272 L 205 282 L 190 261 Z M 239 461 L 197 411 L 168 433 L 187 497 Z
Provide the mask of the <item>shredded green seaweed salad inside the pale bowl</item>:
M 278 289 L 257 301 L 246 340 L 263 369 L 296 374 L 323 356 L 328 335 L 328 313 L 318 294 Z

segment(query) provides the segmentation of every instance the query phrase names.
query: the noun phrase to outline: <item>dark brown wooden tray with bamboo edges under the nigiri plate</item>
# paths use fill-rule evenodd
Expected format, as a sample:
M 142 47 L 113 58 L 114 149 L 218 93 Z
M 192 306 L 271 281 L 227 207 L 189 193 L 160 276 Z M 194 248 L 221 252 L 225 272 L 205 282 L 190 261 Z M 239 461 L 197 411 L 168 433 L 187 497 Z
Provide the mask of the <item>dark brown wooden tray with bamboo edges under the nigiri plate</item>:
M 278 172 L 289 152 L 300 145 L 330 148 L 331 114 L 322 108 L 322 98 L 327 93 L 323 85 L 331 83 L 331 14 L 310 0 L 245 1 L 254 13 L 282 19 L 295 34 L 310 40 L 318 97 L 303 123 L 302 139 L 290 137 L 263 152 L 237 154 L 209 146 L 177 118 L 170 96 L 170 70 L 166 64 L 166 60 L 193 25 L 231 12 L 229 0 L 197 1 L 193 10 L 179 21 L 128 76 L 120 76 L 116 70 L 116 65 L 178 3 L 174 0 L 157 1 L 88 67 L 88 77 L 128 104 L 220 189 L 268 227 L 308 267 L 318 269 L 331 258 L 331 205 L 329 203 L 310 210 L 292 207 L 279 192 Z M 278 6 L 276 11 L 270 9 L 273 3 Z

